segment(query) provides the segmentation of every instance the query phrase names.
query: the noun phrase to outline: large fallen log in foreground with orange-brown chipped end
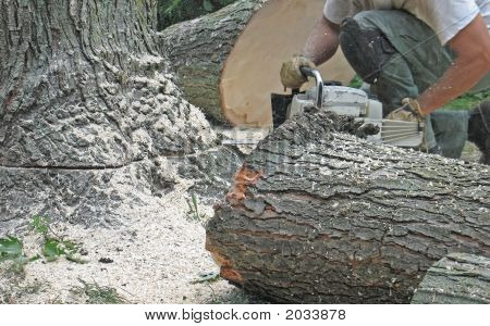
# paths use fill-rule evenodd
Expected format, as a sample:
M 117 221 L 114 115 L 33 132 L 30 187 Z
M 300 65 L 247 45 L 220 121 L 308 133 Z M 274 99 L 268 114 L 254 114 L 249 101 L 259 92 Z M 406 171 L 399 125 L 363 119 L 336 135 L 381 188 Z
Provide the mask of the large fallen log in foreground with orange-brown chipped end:
M 221 275 L 280 302 L 407 303 L 451 252 L 490 256 L 490 172 L 338 134 L 306 113 L 260 142 L 207 227 Z

